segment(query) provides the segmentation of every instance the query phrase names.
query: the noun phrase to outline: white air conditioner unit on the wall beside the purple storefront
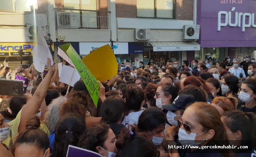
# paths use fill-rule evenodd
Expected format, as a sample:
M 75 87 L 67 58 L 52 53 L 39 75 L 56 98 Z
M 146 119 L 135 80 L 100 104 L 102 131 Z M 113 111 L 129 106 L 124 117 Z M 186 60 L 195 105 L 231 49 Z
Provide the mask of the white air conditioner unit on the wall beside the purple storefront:
M 199 39 L 200 25 L 184 25 L 182 39 L 197 40 Z

